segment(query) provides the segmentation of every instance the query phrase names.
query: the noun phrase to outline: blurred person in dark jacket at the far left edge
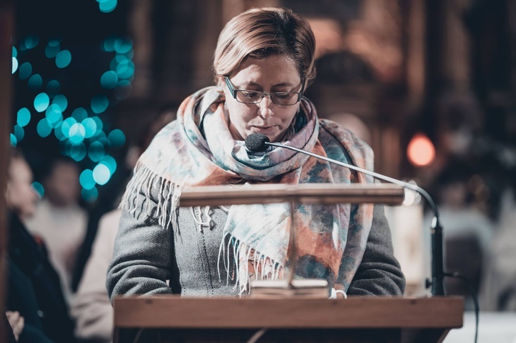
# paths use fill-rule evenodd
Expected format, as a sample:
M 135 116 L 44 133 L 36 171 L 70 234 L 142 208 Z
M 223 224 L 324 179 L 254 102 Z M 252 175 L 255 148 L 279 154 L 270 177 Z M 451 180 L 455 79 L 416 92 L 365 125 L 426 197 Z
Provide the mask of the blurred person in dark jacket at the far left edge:
M 37 196 L 32 190 L 32 171 L 19 151 L 13 149 L 8 169 L 6 203 L 9 211 L 8 319 L 19 342 L 75 342 L 73 323 L 61 291 L 58 274 L 45 250 L 21 219 L 34 214 Z M 20 319 L 23 328 L 20 331 Z M 7 313 L 6 313 L 7 314 Z

